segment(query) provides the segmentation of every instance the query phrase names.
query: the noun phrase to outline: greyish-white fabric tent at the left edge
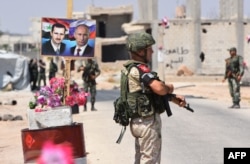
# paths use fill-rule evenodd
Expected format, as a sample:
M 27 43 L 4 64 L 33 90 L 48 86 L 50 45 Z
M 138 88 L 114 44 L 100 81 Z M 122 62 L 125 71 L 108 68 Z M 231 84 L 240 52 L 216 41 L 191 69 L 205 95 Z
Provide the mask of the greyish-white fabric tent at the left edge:
M 13 54 L 0 53 L 0 89 L 12 84 L 14 90 L 30 89 L 28 58 Z

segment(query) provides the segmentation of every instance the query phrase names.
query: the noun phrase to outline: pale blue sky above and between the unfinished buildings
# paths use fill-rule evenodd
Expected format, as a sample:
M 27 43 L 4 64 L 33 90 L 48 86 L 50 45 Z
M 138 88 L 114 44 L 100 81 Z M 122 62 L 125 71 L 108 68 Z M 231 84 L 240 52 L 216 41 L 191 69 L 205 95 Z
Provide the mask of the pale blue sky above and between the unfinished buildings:
M 250 16 L 250 0 L 245 1 L 245 14 Z M 97 7 L 118 7 L 133 5 L 134 19 L 137 18 L 137 0 L 73 0 L 73 11 L 84 11 L 89 5 Z M 32 17 L 66 17 L 67 0 L 1 0 L 0 30 L 4 32 L 28 34 Z M 174 17 L 175 7 L 185 4 L 185 0 L 158 0 L 159 19 Z M 218 15 L 219 0 L 202 0 L 202 17 Z M 248 6 L 248 10 L 247 10 Z

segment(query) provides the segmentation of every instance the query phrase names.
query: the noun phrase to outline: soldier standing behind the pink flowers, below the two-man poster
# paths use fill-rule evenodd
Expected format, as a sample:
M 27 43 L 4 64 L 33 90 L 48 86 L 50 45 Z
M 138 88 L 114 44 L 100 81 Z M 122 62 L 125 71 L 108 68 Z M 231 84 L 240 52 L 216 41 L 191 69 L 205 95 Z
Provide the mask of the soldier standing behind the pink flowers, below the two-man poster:
M 84 91 L 90 91 L 91 111 L 97 111 L 95 108 L 96 78 L 101 73 L 98 63 L 95 60 L 89 58 L 85 61 L 85 66 L 81 65 L 77 71 L 83 71 L 82 79 Z M 87 111 L 87 103 L 84 105 L 83 111 Z

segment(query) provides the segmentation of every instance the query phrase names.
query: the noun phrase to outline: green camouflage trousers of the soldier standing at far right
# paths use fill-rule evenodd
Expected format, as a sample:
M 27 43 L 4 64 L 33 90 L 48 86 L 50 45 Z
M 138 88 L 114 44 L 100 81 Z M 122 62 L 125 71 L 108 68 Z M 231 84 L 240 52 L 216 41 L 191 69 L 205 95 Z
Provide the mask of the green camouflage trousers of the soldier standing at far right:
M 234 104 L 239 104 L 240 102 L 240 82 L 235 78 L 228 78 L 229 92 L 232 97 Z

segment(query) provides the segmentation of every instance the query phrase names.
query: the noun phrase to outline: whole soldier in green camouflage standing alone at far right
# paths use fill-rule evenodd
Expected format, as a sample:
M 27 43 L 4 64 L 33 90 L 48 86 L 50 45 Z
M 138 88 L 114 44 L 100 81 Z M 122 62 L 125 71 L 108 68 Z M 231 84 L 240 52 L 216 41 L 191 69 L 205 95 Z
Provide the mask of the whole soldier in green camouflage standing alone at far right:
M 240 81 L 244 74 L 243 57 L 237 55 L 237 49 L 228 49 L 230 57 L 226 61 L 225 75 L 222 82 L 228 79 L 229 91 L 233 105 L 229 108 L 240 108 Z

